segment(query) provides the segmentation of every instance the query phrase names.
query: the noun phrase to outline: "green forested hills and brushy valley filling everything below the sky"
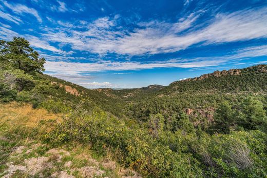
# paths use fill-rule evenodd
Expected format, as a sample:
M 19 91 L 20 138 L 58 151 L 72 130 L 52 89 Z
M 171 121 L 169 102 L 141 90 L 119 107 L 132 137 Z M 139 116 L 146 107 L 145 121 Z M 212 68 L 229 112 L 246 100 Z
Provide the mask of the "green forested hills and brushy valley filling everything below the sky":
M 166 87 L 89 90 L 43 74 L 44 63 L 24 38 L 0 43 L 0 100 L 5 111 L 0 117 L 0 176 L 20 177 L 23 172 L 22 177 L 59 177 L 63 171 L 65 176 L 86 177 L 82 166 L 87 163 L 73 159 L 85 147 L 125 170 L 135 170 L 125 174 L 103 168 L 104 173 L 98 166 L 89 177 L 267 176 L 267 65 L 215 71 Z M 31 112 L 42 111 L 51 119 L 33 120 L 31 114 L 34 127 L 28 120 L 19 122 L 14 113 L 21 106 L 32 106 Z M 47 148 L 14 159 L 12 150 L 26 140 Z M 54 157 L 53 169 L 26 171 L 24 158 L 46 157 L 54 147 L 71 150 L 72 158 L 63 160 L 72 159 L 73 169 L 59 166 Z M 25 169 L 10 173 L 20 166 Z

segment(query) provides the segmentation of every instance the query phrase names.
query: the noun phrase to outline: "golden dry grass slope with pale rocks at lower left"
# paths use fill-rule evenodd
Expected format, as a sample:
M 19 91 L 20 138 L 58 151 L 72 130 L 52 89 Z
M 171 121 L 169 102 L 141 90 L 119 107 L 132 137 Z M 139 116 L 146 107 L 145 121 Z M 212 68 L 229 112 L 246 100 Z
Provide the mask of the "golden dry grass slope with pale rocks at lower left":
M 42 144 L 42 134 L 53 129 L 51 125 L 42 123 L 60 123 L 61 114 L 13 102 L 0 104 L 0 118 L 0 176 L 48 177 L 54 174 L 65 177 L 68 174 L 73 177 L 121 177 L 135 174 L 112 161 L 111 154 L 101 156 L 89 145 L 72 142 L 53 147 Z

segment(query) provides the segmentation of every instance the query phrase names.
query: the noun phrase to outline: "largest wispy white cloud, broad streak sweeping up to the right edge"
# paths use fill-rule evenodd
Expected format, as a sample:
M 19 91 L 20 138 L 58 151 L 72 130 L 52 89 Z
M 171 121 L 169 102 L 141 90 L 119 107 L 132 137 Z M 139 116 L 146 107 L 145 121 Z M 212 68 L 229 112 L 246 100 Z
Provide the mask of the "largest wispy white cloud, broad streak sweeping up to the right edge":
M 70 29 L 69 26 L 60 31 L 49 31 L 44 36 L 52 42 L 69 44 L 74 50 L 128 55 L 169 53 L 195 44 L 210 45 L 267 37 L 266 7 L 218 13 L 206 24 L 195 26 L 202 13 L 204 11 L 189 14 L 173 24 L 158 21 L 138 23 L 139 28 L 133 31 L 119 28 L 119 16 L 102 17 L 92 23 L 84 23 L 88 29 L 86 31 Z

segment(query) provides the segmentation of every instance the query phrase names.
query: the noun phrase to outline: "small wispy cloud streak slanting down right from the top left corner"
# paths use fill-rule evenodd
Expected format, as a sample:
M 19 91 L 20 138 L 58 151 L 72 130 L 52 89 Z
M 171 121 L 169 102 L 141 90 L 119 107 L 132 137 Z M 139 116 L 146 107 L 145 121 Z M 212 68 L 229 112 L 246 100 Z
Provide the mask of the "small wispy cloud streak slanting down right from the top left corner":
M 29 8 L 29 7 L 22 5 L 22 4 L 9 4 L 6 1 L 4 1 L 3 3 L 6 7 L 11 9 L 14 13 L 17 13 L 17 14 L 28 13 L 28 14 L 35 16 L 38 22 L 40 22 L 40 23 L 43 22 L 42 18 L 39 16 L 38 12 L 33 8 Z

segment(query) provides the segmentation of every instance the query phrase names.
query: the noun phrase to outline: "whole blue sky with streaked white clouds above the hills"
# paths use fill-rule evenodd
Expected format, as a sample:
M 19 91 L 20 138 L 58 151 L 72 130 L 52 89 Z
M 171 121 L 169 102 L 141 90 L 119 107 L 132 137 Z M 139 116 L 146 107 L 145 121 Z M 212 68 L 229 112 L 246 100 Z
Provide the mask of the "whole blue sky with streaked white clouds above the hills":
M 0 38 L 87 88 L 168 85 L 267 63 L 267 1 L 0 1 Z

